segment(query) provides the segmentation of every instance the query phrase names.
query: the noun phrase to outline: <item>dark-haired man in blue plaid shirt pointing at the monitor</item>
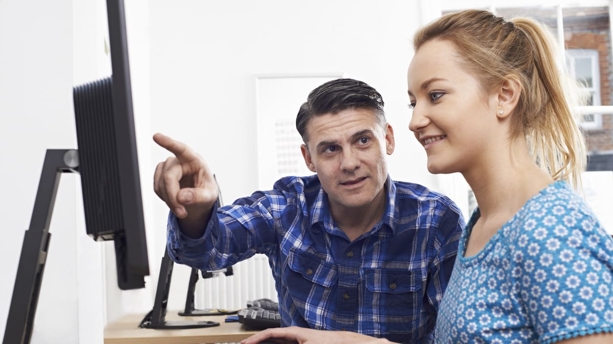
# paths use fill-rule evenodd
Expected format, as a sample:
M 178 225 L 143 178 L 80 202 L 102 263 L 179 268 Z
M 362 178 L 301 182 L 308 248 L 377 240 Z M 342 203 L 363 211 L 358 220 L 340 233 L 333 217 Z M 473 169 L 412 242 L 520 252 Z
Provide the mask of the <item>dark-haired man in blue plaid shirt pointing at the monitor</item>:
M 273 190 L 222 208 L 202 158 L 154 135 L 175 154 L 154 176 L 156 193 L 174 212 L 171 258 L 216 270 L 264 253 L 282 326 L 432 342 L 464 225 L 459 209 L 446 196 L 389 178 L 394 131 L 368 84 L 322 84 L 300 107 L 296 127 L 316 175 L 282 178 Z

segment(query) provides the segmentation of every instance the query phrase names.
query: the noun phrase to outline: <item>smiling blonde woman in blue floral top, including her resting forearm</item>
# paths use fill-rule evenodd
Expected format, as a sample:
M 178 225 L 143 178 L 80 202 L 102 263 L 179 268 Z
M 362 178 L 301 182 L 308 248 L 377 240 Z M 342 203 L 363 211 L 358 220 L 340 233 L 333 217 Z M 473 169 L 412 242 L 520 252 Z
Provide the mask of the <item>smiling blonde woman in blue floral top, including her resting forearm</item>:
M 409 129 L 428 170 L 462 173 L 479 205 L 436 343 L 613 343 L 613 241 L 568 184 L 579 187 L 585 149 L 554 42 L 536 21 L 482 10 L 446 15 L 414 37 Z M 372 340 L 303 329 L 252 338 L 319 335 Z

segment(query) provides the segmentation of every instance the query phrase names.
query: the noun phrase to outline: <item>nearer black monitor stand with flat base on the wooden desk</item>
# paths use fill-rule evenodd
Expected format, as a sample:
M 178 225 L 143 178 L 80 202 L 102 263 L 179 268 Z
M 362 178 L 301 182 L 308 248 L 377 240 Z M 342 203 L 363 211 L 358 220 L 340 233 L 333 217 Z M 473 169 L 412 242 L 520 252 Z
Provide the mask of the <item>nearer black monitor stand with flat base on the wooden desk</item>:
M 166 306 L 168 305 L 168 292 L 170 291 L 170 279 L 174 262 L 168 255 L 168 249 L 164 250 L 162 265 L 159 269 L 158 290 L 155 294 L 153 309 L 145 315 L 140 322 L 140 327 L 147 329 L 194 329 L 199 327 L 219 326 L 216 321 L 166 321 Z M 197 275 L 196 275 L 197 279 Z M 196 283 L 194 282 L 194 285 Z

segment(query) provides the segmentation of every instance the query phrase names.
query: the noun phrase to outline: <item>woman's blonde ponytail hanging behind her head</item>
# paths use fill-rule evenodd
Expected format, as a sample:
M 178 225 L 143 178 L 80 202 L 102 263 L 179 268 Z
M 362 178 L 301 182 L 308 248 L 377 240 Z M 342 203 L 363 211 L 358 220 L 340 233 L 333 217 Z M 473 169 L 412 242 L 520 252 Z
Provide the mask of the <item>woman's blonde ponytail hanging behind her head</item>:
M 576 84 L 559 59 L 557 43 L 549 29 L 528 18 L 512 22 L 525 36 L 528 50 L 533 51 L 532 61 L 525 68 L 530 82 L 525 98 L 532 102 L 525 109 L 531 154 L 552 178 L 569 181 L 578 189 L 587 159 L 584 137 L 577 123 Z

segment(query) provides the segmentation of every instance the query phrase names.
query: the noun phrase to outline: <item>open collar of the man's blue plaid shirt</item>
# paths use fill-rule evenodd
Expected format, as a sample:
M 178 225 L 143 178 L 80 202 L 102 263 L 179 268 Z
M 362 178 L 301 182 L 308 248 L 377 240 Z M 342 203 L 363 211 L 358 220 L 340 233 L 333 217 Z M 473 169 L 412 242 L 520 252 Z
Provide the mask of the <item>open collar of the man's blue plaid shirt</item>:
M 395 233 L 397 228 L 398 218 L 400 217 L 398 209 L 396 209 L 396 185 L 390 178 L 389 174 L 383 187 L 386 190 L 386 209 L 381 218 L 380 225 L 376 225 L 373 230 L 368 232 L 368 235 L 375 233 L 383 225 L 387 225 L 387 228 Z M 321 223 L 321 226 L 318 224 Z M 328 201 L 328 194 L 324 191 L 323 187 L 319 187 L 319 193 L 313 207 L 311 208 L 311 230 L 317 232 L 319 228 L 325 228 L 329 234 L 335 234 L 338 230 L 335 230 L 335 223 L 330 214 L 330 203 Z

